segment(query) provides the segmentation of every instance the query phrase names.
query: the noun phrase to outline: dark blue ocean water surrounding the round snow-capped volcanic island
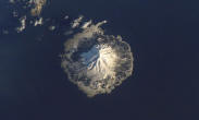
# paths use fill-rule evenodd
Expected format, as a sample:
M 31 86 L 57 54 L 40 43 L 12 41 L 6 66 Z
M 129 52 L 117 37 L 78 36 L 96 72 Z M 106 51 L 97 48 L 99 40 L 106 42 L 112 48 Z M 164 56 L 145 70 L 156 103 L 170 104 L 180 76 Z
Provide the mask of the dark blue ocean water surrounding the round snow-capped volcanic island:
M 0 120 L 198 120 L 199 1 L 49 0 L 53 21 L 17 34 L 13 5 L 0 1 Z M 16 8 L 17 9 L 17 8 Z M 26 13 L 26 11 L 22 11 Z M 69 15 L 69 21 L 63 21 Z M 134 53 L 134 72 L 110 95 L 87 98 L 69 82 L 59 55 L 70 22 L 107 20 Z

